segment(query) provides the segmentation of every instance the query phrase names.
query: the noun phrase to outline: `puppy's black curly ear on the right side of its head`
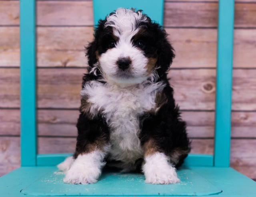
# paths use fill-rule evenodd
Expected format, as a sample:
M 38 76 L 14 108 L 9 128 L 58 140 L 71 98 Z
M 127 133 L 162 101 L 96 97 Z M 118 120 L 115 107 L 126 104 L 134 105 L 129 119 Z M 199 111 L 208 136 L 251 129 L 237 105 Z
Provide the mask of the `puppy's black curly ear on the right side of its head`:
M 158 60 L 156 62 L 157 66 L 160 66 L 158 70 L 159 75 L 163 75 L 168 71 L 172 60 L 175 57 L 174 49 L 167 39 L 167 33 L 160 26 L 157 29 L 157 55 Z

